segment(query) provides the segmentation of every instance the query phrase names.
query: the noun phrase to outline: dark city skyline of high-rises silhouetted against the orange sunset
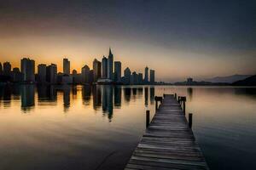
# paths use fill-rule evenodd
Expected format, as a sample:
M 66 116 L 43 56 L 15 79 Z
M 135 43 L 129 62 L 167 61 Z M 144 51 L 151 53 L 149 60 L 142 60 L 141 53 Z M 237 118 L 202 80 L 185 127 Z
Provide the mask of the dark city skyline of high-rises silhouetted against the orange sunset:
M 150 69 L 148 77 L 148 66 L 143 73 L 133 71 L 126 67 L 124 77 L 122 77 L 122 62 L 114 59 L 111 48 L 108 51 L 108 58 L 104 55 L 101 59 L 94 59 L 92 67 L 84 65 L 80 72 L 70 70 L 71 61 L 67 58 L 62 59 L 62 71 L 58 71 L 58 65 L 44 63 L 35 65 L 35 60 L 30 58 L 20 59 L 20 68 L 12 69 L 8 61 L 0 62 L 1 82 L 19 82 L 19 83 L 38 83 L 38 84 L 155 84 L 154 70 Z M 38 68 L 38 71 L 35 71 Z M 129 70 L 128 72 L 126 70 Z

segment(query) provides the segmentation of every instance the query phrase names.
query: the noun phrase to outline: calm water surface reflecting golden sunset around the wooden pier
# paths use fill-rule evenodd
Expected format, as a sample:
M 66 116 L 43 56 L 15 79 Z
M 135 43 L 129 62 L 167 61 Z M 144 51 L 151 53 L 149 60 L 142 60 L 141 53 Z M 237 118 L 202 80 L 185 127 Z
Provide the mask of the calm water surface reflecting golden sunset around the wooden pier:
M 256 88 L 0 87 L 0 169 L 123 169 L 154 95 L 187 96 L 211 169 L 256 168 Z

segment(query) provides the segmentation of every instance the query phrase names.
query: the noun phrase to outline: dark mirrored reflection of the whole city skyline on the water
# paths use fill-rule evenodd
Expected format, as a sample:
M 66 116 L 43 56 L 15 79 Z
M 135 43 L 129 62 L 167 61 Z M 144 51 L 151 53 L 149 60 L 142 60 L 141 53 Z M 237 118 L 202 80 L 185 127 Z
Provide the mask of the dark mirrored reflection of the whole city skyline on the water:
M 28 112 L 35 106 L 35 96 L 37 105 L 58 105 L 58 95 L 63 101 L 63 111 L 68 112 L 72 105 L 71 100 L 76 100 L 81 95 L 83 105 L 92 106 L 95 111 L 101 111 L 104 116 L 108 116 L 111 121 L 113 109 L 120 109 L 122 106 L 122 92 L 124 93 L 125 103 L 129 104 L 132 99 L 143 97 L 145 93 L 145 105 L 148 106 L 148 88 L 149 87 L 122 87 L 122 86 L 41 86 L 41 85 L 15 85 L 1 86 L 0 99 L 4 107 L 10 107 L 12 100 L 20 99 L 21 110 Z M 154 103 L 154 87 L 150 87 L 150 104 Z M 78 93 L 81 91 L 81 93 Z M 21 97 L 21 98 L 20 98 Z

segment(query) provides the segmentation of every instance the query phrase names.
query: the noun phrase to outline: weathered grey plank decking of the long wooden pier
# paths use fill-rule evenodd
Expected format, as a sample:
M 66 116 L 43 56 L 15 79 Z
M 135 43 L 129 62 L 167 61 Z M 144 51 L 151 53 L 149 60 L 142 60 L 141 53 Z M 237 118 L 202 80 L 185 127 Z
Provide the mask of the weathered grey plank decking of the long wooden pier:
M 125 170 L 208 169 L 181 105 L 165 95 Z

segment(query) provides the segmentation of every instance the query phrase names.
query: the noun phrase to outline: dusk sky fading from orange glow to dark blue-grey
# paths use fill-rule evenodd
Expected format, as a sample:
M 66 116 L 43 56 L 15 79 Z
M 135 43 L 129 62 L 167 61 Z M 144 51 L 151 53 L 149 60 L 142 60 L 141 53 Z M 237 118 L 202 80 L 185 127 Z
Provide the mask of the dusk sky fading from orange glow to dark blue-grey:
M 0 62 L 71 69 L 108 56 L 157 81 L 256 73 L 253 0 L 0 0 Z

